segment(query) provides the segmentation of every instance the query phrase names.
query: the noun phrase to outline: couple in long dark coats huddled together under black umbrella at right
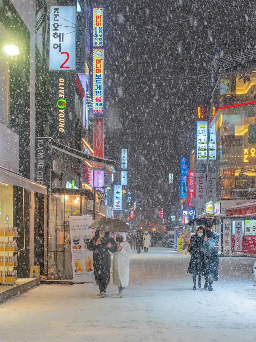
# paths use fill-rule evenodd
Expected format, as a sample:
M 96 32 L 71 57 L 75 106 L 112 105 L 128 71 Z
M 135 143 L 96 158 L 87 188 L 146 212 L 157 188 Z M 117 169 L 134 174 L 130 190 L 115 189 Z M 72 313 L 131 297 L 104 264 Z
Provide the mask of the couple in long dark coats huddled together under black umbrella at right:
M 190 262 L 187 273 L 193 276 L 193 290 L 196 290 L 196 276 L 198 275 L 198 287 L 201 287 L 201 277 L 204 275 L 204 288 L 213 291 L 212 283 L 218 280 L 219 235 L 213 232 L 211 227 L 197 228 L 196 234 L 192 235 L 189 244 Z

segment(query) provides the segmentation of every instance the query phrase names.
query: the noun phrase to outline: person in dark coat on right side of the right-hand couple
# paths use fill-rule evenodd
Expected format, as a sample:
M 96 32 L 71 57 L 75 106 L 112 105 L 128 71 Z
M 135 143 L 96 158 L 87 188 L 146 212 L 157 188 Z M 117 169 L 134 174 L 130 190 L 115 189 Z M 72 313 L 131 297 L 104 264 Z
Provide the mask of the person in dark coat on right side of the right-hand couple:
M 204 288 L 213 291 L 212 283 L 218 280 L 219 272 L 219 235 L 212 228 L 206 228 L 203 242 L 203 274 L 205 278 Z

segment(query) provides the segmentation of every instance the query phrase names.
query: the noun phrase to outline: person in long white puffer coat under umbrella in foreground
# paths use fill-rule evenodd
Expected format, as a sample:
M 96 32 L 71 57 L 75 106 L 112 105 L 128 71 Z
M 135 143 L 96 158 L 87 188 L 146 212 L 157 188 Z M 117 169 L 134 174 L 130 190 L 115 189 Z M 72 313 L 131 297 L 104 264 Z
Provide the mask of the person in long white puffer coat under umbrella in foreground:
M 129 284 L 131 246 L 126 241 L 125 233 L 117 233 L 114 240 L 116 241 L 117 252 L 114 253 L 113 260 L 113 284 L 118 286 L 117 295 L 123 298 L 123 290 Z

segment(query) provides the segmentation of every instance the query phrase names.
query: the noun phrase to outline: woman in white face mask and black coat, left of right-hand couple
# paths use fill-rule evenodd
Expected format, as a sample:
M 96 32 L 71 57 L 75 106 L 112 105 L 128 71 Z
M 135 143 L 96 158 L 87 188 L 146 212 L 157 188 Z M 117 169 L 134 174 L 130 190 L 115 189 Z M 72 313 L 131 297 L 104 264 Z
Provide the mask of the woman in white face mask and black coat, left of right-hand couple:
M 193 290 L 196 290 L 196 277 L 198 275 L 198 287 L 201 287 L 202 277 L 202 247 L 203 247 L 203 232 L 202 226 L 198 227 L 196 234 L 190 238 L 188 251 L 190 253 L 190 262 L 187 273 L 192 274 Z

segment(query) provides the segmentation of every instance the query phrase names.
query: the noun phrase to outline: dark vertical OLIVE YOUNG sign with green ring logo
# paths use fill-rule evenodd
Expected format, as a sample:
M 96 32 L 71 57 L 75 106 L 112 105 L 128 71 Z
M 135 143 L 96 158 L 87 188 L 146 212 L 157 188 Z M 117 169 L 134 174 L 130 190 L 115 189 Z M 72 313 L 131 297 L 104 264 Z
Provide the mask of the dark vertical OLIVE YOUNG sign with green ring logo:
M 49 73 L 51 88 L 51 120 L 49 132 L 53 138 L 74 137 L 75 76 L 71 73 Z

